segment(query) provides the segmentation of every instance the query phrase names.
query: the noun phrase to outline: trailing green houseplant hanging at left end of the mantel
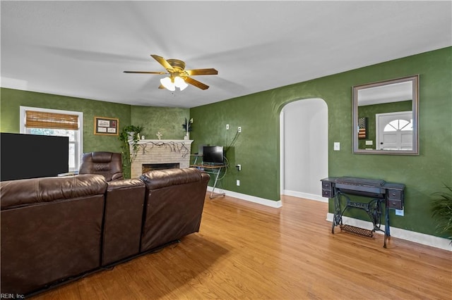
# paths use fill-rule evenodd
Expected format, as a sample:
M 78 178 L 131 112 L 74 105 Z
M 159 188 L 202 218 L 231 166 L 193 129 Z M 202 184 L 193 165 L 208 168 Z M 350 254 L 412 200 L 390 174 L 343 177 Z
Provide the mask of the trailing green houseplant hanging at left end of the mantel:
M 138 151 L 138 141 L 143 126 L 127 125 L 121 130 L 118 139 L 121 141 L 122 168 L 124 175 L 130 178 L 130 167 Z

